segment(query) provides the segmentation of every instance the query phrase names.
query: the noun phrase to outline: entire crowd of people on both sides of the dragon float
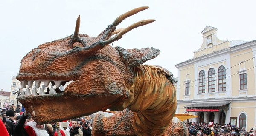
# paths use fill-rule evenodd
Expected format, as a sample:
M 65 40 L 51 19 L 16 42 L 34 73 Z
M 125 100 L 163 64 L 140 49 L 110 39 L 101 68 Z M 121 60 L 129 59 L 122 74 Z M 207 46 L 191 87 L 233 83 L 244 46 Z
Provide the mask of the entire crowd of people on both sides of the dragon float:
M 0 109 L 1 136 L 91 136 L 92 120 L 77 118 L 50 124 L 37 124 L 26 111 L 20 111 L 20 106 L 14 110 Z M 256 129 L 246 130 L 229 124 L 218 123 L 185 123 L 189 136 L 256 136 Z

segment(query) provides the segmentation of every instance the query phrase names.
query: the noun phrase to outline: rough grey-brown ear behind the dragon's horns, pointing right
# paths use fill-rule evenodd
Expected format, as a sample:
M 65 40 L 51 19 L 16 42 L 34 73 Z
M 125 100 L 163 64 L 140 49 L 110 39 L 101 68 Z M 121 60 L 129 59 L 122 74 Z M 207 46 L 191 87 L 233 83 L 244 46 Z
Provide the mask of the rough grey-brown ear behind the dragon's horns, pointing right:
M 160 50 L 155 48 L 135 48 L 131 50 L 126 50 L 120 46 L 116 46 L 115 48 L 119 51 L 122 60 L 130 67 L 139 66 L 150 59 L 154 59 L 160 54 Z

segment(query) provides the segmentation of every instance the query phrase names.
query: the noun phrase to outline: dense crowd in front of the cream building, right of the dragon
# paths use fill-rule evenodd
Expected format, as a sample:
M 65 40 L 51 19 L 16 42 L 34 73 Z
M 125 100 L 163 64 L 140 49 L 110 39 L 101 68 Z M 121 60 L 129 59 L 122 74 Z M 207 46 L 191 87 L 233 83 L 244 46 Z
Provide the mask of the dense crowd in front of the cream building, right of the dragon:
M 256 129 L 249 131 L 245 127 L 239 128 L 229 124 L 186 122 L 189 136 L 256 136 Z

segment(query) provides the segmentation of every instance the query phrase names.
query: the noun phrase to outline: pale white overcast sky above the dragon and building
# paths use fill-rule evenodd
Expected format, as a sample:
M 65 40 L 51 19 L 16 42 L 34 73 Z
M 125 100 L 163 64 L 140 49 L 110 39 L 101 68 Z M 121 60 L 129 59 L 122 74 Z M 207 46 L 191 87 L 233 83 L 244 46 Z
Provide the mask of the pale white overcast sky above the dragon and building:
M 1 0 L 0 89 L 10 91 L 20 61 L 38 45 L 79 33 L 96 37 L 120 14 L 149 6 L 117 28 L 145 19 L 156 21 L 136 28 L 114 46 L 154 47 L 161 54 L 146 64 L 160 65 L 177 77 L 176 64 L 191 59 L 203 42 L 206 26 L 218 29 L 221 40 L 256 40 L 255 0 Z

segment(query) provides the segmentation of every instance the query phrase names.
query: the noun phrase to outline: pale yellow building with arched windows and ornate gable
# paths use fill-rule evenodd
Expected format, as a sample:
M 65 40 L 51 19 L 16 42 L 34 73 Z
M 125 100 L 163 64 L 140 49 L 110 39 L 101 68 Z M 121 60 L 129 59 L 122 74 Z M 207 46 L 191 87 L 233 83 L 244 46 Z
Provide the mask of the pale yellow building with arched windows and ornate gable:
M 256 40 L 220 40 L 210 26 L 201 34 L 203 44 L 194 57 L 175 65 L 176 113 L 200 116 L 190 121 L 231 122 L 250 130 L 256 125 Z

